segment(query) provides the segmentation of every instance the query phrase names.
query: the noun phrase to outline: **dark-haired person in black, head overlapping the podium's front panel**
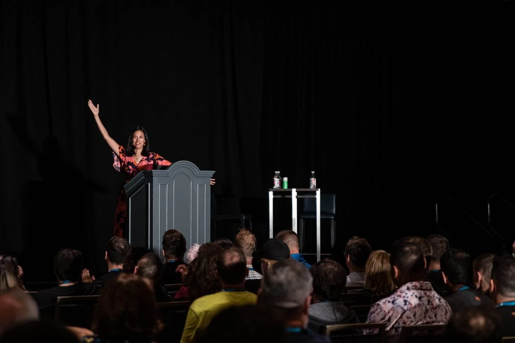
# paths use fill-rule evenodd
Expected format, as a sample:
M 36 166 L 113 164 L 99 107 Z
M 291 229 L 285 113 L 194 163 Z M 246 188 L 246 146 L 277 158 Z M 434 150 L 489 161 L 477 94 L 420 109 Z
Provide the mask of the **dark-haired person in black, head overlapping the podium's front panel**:
M 186 239 L 183 234 L 175 229 L 167 230 L 163 234 L 163 264 L 162 284 L 182 283 L 182 274 L 177 271 L 177 267 L 185 265 L 184 254 L 186 252 Z

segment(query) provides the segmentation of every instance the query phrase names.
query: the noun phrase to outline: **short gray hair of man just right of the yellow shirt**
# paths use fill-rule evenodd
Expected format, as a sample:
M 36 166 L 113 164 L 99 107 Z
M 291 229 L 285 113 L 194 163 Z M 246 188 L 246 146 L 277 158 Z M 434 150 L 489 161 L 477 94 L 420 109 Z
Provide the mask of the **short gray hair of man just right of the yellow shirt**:
M 288 259 L 274 264 L 263 278 L 262 301 L 283 309 L 302 306 L 313 289 L 313 276 L 302 263 Z

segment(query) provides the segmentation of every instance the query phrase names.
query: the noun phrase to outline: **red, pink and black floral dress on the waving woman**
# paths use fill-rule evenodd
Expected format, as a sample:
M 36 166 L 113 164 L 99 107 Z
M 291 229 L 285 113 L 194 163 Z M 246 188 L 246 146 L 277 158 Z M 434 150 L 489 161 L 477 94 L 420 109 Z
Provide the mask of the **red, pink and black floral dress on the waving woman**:
M 136 164 L 133 156 L 125 154 L 125 148 L 118 147 L 119 157 L 113 152 L 113 167 L 116 171 L 124 173 L 125 180 L 118 193 L 118 202 L 114 214 L 114 236 L 126 236 L 126 220 L 127 220 L 127 199 L 124 186 L 142 170 L 157 169 L 158 166 L 170 166 L 171 162 L 154 152 L 148 153 L 148 156 L 142 156 L 140 163 Z

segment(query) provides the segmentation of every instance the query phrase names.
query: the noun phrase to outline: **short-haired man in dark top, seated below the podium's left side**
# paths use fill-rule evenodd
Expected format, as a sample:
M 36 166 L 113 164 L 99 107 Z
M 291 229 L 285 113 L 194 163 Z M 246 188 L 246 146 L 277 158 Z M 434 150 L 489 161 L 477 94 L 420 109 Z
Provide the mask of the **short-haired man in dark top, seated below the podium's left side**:
M 168 295 L 168 292 L 160 283 L 163 265 L 159 256 L 153 252 L 148 252 L 138 261 L 138 265 L 134 270 L 136 275 L 139 275 L 147 282 L 150 289 L 154 292 L 157 302 L 168 302 L 173 299 Z

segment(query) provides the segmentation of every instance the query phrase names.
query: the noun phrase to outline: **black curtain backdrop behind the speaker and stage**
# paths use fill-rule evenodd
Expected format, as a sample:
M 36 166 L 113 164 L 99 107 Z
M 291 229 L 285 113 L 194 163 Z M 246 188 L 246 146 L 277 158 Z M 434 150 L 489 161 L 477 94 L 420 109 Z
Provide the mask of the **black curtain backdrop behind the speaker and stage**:
M 152 151 L 215 170 L 215 194 L 252 199 L 260 244 L 275 170 L 297 188 L 315 170 L 336 193 L 336 257 L 355 234 L 388 249 L 439 232 L 442 194 L 487 226 L 491 194 L 515 204 L 513 14 L 511 1 L 3 0 L 0 252 L 27 278 L 53 279 L 64 246 L 105 272 L 123 176 L 89 98 L 121 145 L 143 125 Z

